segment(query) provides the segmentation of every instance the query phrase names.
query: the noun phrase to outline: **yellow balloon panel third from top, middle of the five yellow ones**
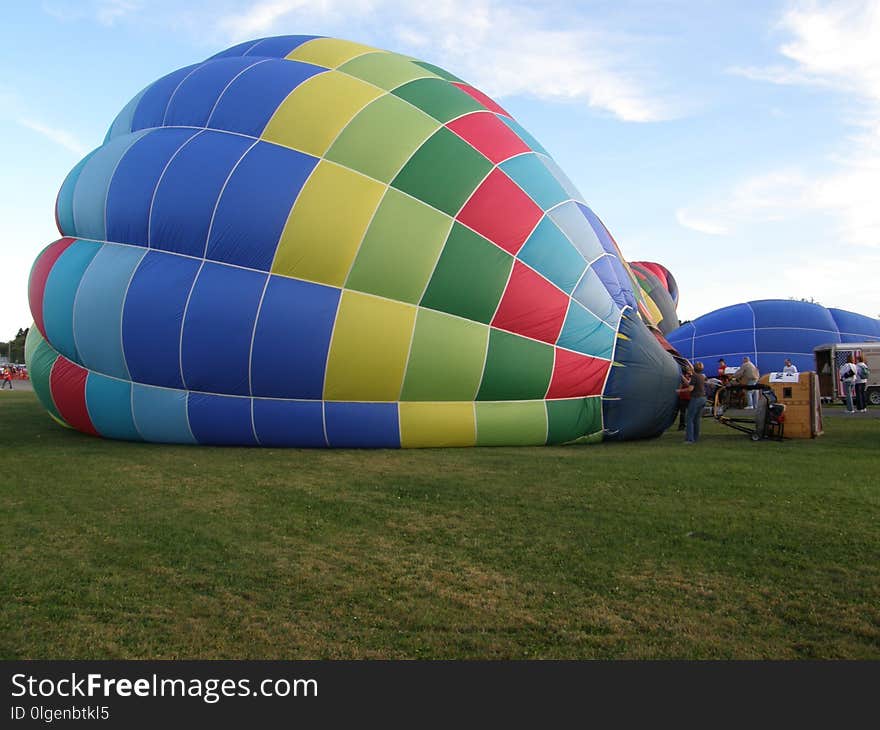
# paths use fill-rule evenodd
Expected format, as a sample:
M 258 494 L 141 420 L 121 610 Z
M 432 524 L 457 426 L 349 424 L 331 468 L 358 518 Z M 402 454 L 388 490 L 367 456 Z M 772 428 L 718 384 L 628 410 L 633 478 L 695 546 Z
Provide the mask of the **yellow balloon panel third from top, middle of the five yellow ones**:
M 290 211 L 272 273 L 342 286 L 386 187 L 321 161 Z

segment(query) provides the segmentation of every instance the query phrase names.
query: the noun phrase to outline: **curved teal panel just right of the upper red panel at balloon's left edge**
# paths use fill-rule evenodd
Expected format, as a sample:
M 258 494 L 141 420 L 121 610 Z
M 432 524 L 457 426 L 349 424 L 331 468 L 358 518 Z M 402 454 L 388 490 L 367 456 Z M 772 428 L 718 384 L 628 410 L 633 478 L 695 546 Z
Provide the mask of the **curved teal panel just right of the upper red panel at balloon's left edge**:
M 68 360 L 80 362 L 73 336 L 73 304 L 83 274 L 101 250 L 100 243 L 74 241 L 58 257 L 43 294 L 43 324 L 46 339 Z

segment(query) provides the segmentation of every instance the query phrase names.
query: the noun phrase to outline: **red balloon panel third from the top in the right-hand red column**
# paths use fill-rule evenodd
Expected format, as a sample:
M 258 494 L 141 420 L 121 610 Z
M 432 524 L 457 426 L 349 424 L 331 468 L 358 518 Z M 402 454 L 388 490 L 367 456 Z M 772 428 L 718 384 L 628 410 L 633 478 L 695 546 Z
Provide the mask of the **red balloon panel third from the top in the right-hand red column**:
M 458 220 L 516 255 L 544 212 L 497 167 L 480 183 Z

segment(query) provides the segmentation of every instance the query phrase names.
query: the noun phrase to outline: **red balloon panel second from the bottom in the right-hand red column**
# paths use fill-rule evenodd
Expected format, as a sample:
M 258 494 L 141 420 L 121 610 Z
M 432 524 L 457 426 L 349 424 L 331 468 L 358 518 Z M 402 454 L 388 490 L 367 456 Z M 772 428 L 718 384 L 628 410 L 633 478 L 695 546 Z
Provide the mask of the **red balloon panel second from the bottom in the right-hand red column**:
M 520 261 L 501 296 L 492 326 L 555 344 L 568 311 L 568 296 Z

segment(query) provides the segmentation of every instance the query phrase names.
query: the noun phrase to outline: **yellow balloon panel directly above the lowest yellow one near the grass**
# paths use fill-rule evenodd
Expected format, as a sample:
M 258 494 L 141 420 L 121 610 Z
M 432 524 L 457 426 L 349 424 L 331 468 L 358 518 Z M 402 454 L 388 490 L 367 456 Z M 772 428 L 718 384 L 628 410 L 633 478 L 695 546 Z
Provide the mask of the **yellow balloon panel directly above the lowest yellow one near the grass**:
M 416 309 L 344 291 L 327 358 L 324 400 L 398 400 Z

